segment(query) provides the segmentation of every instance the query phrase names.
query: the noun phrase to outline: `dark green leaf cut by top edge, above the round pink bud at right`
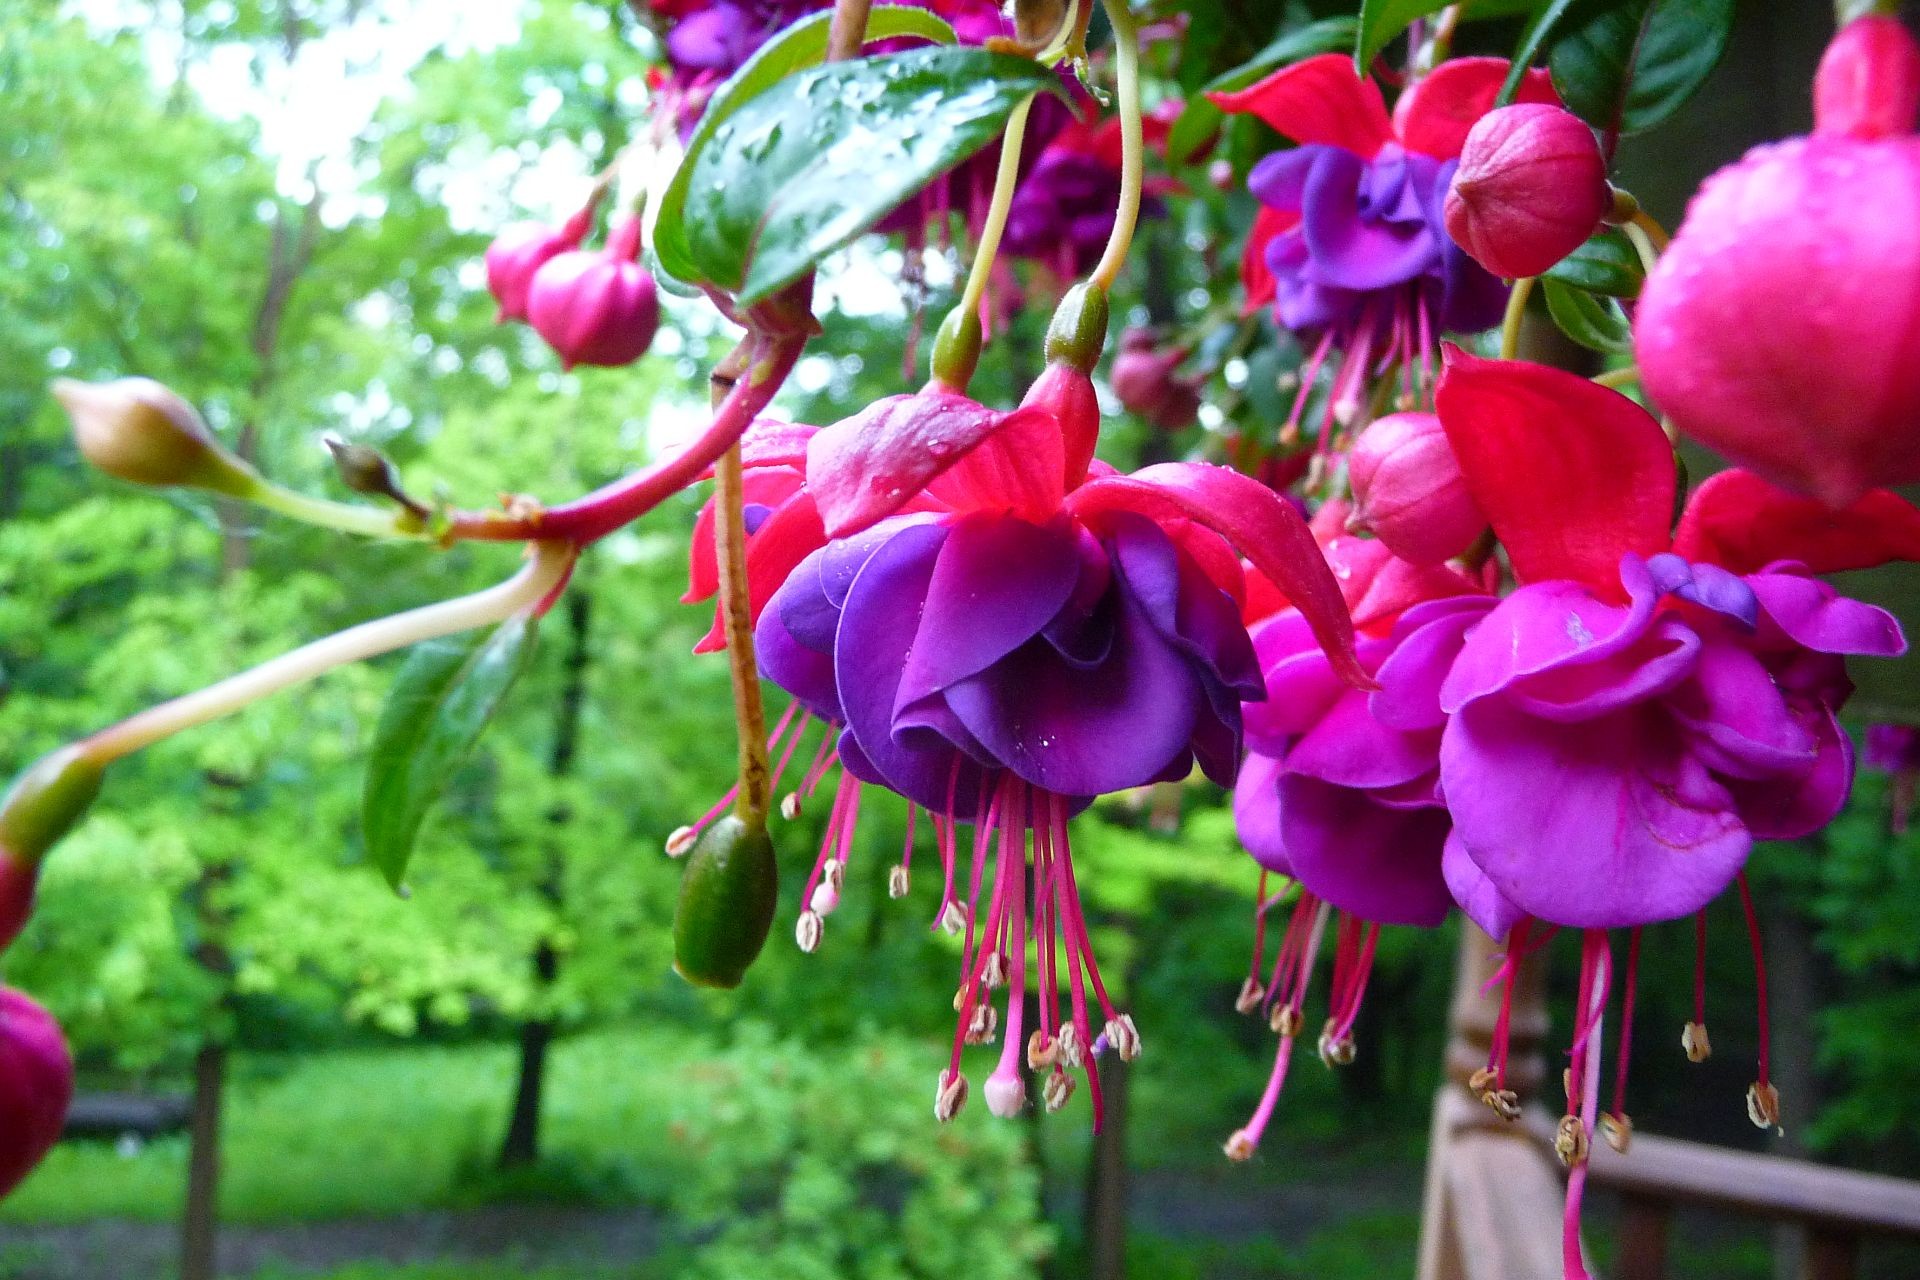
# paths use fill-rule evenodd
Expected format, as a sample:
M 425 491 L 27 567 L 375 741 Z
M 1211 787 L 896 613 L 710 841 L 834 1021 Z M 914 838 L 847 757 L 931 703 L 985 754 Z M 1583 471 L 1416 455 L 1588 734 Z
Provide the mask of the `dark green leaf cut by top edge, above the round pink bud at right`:
M 1680 109 L 1726 50 L 1734 0 L 1584 0 L 1548 65 L 1596 129 L 1640 132 Z

